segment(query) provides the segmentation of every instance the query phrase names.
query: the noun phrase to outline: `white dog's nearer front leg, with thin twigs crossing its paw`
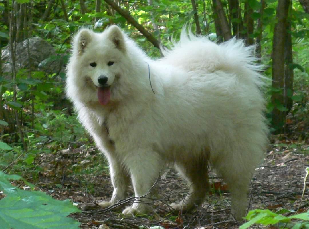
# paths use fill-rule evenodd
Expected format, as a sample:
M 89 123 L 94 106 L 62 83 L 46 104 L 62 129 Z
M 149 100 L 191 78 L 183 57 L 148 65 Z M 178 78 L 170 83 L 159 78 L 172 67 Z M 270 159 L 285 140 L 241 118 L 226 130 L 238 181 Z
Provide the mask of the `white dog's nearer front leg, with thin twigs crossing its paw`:
M 125 165 L 131 174 L 132 184 L 135 197 L 137 198 L 133 205 L 125 208 L 123 214 L 134 215 L 144 214 L 152 211 L 152 207 L 147 204 L 151 200 L 147 194 L 143 198 L 139 198 L 149 191 L 159 177 L 160 171 L 163 168 L 164 161 L 157 152 L 152 149 L 138 149 L 125 160 Z

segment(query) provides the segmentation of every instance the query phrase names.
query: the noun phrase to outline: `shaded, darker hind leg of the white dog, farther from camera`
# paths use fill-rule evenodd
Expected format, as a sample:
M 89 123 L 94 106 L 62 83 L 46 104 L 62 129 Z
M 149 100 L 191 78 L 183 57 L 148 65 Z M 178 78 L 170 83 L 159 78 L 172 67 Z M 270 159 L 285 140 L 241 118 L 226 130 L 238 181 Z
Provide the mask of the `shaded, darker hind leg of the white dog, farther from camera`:
M 192 160 L 183 161 L 181 164 L 178 163 L 176 168 L 188 181 L 190 190 L 183 201 L 178 204 L 172 203 L 171 208 L 185 212 L 200 205 L 209 192 L 207 153 Z

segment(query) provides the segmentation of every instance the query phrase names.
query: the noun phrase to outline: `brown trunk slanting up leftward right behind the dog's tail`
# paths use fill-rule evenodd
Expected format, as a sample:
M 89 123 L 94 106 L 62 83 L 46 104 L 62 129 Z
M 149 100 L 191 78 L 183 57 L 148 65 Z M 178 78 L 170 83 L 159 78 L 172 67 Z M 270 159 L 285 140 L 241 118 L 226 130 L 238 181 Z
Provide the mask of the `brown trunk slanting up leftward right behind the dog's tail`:
M 219 23 L 219 25 L 215 25 L 215 27 L 220 27 L 220 30 L 222 32 L 223 39 L 230 40 L 232 38 L 231 34 L 231 28 L 229 26 L 229 23 L 227 21 L 222 2 L 220 0 L 212 0 L 213 3 L 213 9 L 214 9 L 214 14 L 217 15 L 217 20 L 215 20 L 215 23 Z M 216 29 L 217 31 L 217 29 Z

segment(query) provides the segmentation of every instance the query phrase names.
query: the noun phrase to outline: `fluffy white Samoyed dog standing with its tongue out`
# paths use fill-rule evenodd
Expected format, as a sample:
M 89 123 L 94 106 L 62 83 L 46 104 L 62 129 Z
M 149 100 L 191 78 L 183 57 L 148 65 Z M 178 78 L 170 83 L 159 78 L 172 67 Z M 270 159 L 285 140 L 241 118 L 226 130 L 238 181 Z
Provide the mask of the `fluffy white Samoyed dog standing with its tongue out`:
M 146 194 L 173 164 L 190 191 L 171 207 L 190 210 L 208 193 L 211 164 L 229 187 L 231 213 L 242 219 L 267 145 L 254 47 L 235 39 L 216 44 L 183 29 L 174 48 L 152 60 L 115 25 L 81 29 L 72 44 L 66 94 L 106 156 L 114 188 L 99 205 L 124 199 L 130 181 L 136 197 Z M 146 197 L 123 214 L 151 212 Z

